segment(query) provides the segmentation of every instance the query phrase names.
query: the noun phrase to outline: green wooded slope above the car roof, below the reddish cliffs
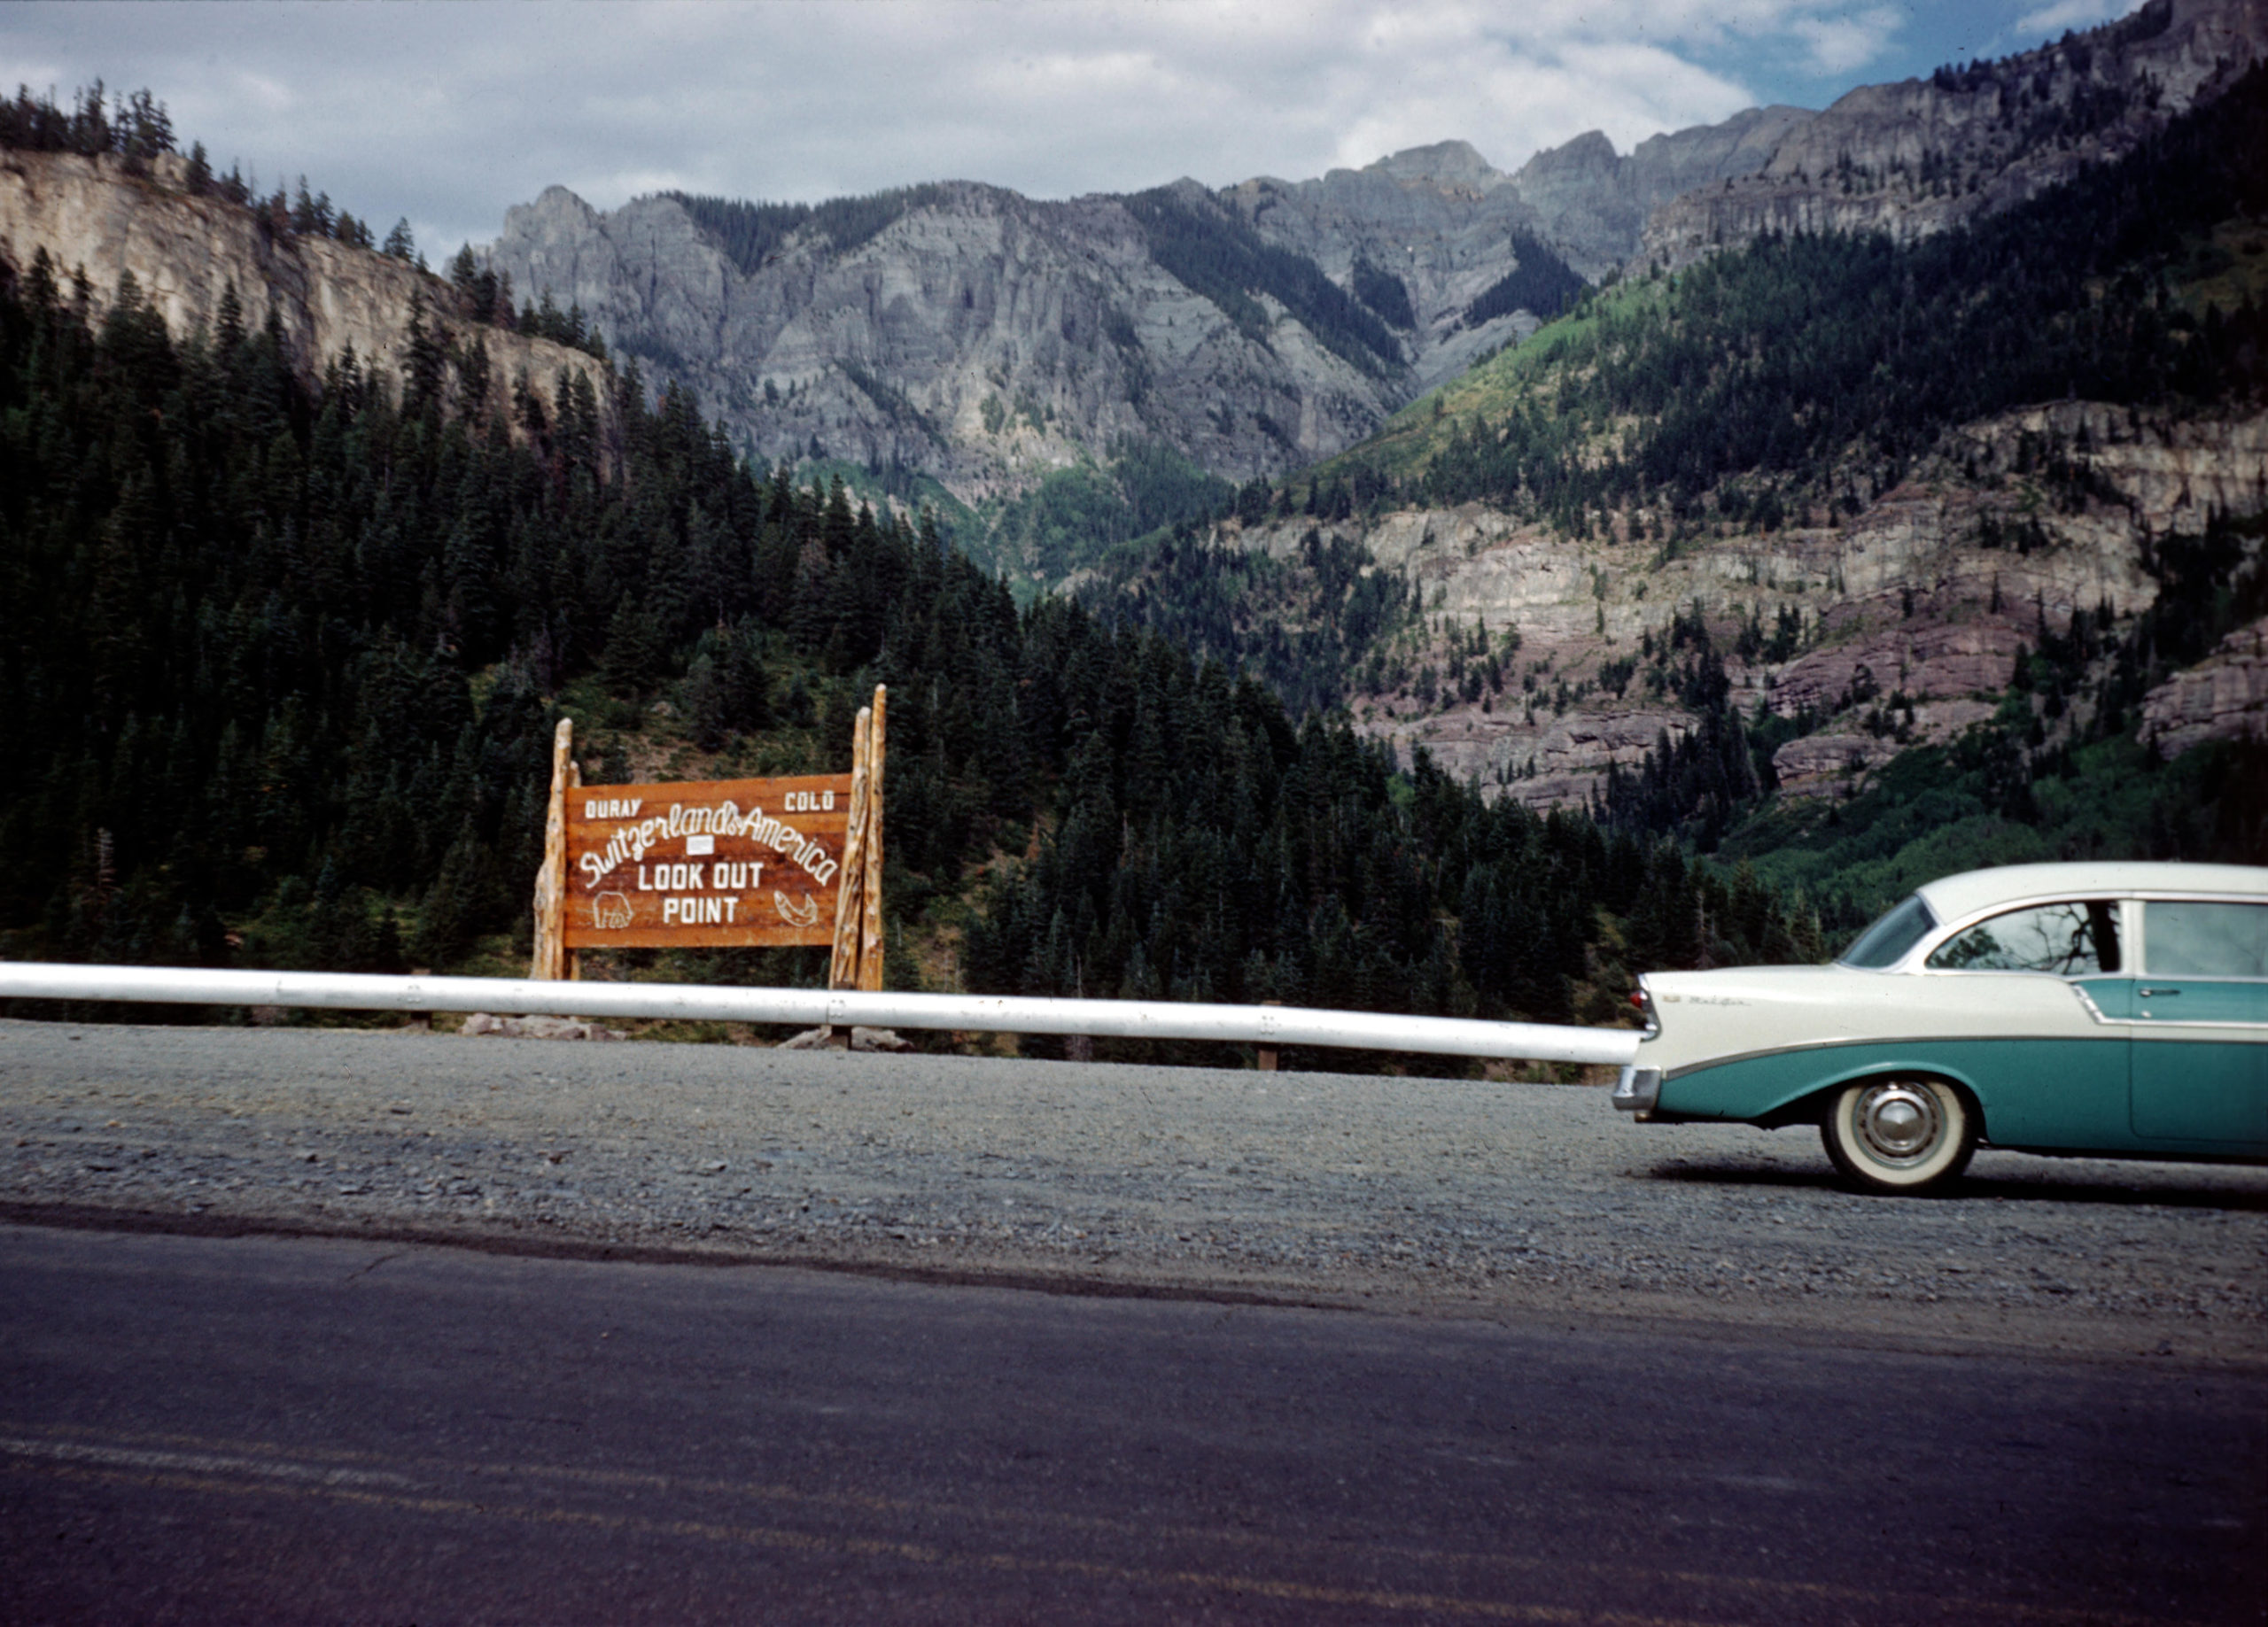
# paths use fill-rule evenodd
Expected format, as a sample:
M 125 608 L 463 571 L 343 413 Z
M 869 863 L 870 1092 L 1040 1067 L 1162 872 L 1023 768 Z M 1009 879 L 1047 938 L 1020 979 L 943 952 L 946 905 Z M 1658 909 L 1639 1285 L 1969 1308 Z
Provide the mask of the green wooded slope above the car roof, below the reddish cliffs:
M 2037 628 L 1989 721 L 1892 757 L 1851 800 L 1776 798 L 1771 748 L 1801 721 L 1744 716 L 1706 628 L 1660 666 L 1692 689 L 1699 727 L 1635 770 L 1608 773 L 1599 818 L 1676 836 L 1799 893 L 1828 936 L 1855 931 L 1937 875 L 2048 859 L 2159 857 L 2268 863 L 2268 743 L 2218 741 L 2175 761 L 2136 736 L 2143 696 L 2268 614 L 2268 517 L 2216 519 L 2150 560 L 2159 594 L 2132 619 L 2109 605 Z M 1864 727 L 1892 736 L 1896 691 Z M 1912 702 L 1903 705 L 1905 716 Z

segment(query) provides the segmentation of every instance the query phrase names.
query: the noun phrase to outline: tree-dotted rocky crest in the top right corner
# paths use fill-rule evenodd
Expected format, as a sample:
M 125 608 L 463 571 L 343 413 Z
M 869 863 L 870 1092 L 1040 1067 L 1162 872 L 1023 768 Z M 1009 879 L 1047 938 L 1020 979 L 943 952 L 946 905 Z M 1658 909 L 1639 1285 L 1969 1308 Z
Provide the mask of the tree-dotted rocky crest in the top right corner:
M 1687 190 L 1644 227 L 1669 270 L 1765 231 L 1901 242 L 1998 213 L 2130 152 L 2268 50 L 2268 0 L 2150 0 L 2000 63 L 1851 91 L 1789 127 L 1751 174 Z

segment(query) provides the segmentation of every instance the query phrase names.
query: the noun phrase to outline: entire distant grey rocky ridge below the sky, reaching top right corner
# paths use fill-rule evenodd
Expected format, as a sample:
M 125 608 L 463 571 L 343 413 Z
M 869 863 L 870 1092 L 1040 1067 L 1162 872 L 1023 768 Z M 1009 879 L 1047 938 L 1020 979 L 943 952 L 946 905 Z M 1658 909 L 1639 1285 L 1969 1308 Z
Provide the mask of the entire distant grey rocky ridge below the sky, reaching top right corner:
M 1515 170 L 1438 140 L 1304 181 L 1059 202 L 978 181 L 710 199 L 778 227 L 753 263 L 669 197 L 596 211 L 551 188 L 508 211 L 485 263 L 581 304 L 767 462 L 921 469 L 982 503 L 1154 442 L 1243 483 L 1345 451 L 1533 333 L 1554 310 L 1483 304 L 1522 267 L 1599 283 L 1765 231 L 1937 231 L 2132 147 L 2263 41 L 2268 0 L 2150 0 L 1823 113 L 1744 109 L 1626 154 L 1585 131 Z M 871 229 L 835 236 L 828 211 Z M 1390 340 L 1349 338 L 1370 315 Z

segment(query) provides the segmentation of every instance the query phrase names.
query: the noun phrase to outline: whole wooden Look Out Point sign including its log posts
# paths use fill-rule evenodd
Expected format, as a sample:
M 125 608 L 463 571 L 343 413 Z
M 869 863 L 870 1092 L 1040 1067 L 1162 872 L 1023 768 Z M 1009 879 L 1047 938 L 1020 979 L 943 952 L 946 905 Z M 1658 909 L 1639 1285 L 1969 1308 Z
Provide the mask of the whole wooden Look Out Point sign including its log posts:
M 581 977 L 583 949 L 828 945 L 830 988 L 880 988 L 885 696 L 846 775 L 585 786 L 562 721 L 528 977 Z

